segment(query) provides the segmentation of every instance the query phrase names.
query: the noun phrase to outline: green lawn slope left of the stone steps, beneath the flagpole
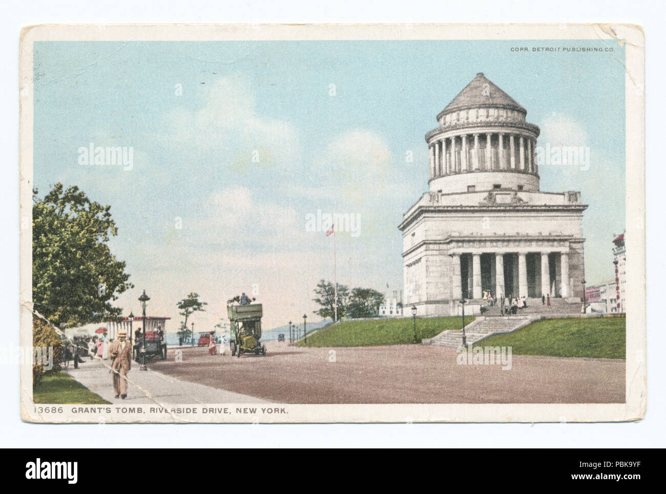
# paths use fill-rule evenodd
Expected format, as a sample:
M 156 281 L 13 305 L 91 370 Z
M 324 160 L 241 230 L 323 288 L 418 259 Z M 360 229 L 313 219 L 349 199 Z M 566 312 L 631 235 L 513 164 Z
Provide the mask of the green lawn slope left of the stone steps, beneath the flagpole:
M 474 317 L 465 318 L 465 324 L 474 321 Z M 444 330 L 460 330 L 462 318 L 427 318 L 416 319 L 416 339 L 432 338 Z M 341 347 L 341 346 L 381 346 L 414 343 L 414 320 L 411 318 L 377 319 L 354 321 L 348 320 L 336 326 L 330 326 L 320 332 L 308 335 L 308 344 L 303 340 L 298 346 Z

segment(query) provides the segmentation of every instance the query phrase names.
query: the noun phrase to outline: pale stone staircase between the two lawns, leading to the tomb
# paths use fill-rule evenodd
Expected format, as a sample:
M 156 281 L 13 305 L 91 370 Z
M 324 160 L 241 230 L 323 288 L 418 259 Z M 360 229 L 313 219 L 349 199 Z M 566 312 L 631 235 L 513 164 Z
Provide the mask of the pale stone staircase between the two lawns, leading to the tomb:
M 529 303 L 527 305 L 529 308 Z M 465 328 L 467 344 L 470 346 L 494 334 L 519 330 L 536 319 L 535 316 L 477 316 L 476 320 Z M 430 340 L 424 339 L 423 344 L 460 348 L 462 347 L 462 331 L 446 330 Z

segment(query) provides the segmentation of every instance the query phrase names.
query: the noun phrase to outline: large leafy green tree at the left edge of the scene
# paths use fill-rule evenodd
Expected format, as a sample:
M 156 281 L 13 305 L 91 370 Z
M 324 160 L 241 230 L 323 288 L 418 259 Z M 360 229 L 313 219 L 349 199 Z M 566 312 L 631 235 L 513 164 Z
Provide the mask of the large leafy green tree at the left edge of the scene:
M 33 190 L 33 303 L 61 328 L 120 316 L 111 306 L 133 288 L 125 262 L 109 250 L 118 234 L 111 206 L 55 184 L 43 199 Z

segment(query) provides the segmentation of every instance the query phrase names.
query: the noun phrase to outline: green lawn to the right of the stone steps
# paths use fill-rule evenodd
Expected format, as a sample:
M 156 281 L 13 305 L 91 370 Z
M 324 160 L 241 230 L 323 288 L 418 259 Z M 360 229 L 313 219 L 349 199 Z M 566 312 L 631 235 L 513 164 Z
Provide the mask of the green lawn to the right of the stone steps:
M 625 316 L 547 319 L 475 346 L 510 346 L 512 354 L 625 358 Z

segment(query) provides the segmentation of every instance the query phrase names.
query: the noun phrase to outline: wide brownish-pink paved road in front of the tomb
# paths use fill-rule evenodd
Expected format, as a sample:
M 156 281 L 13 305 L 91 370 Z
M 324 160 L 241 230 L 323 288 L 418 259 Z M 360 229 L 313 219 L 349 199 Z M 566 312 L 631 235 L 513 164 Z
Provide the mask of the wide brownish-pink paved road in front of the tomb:
M 279 403 L 625 402 L 624 360 L 514 355 L 511 370 L 503 371 L 497 365 L 458 365 L 451 348 L 266 346 L 265 357 L 240 358 L 186 348 L 182 362 L 170 356 L 152 368 Z

